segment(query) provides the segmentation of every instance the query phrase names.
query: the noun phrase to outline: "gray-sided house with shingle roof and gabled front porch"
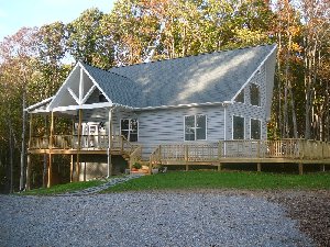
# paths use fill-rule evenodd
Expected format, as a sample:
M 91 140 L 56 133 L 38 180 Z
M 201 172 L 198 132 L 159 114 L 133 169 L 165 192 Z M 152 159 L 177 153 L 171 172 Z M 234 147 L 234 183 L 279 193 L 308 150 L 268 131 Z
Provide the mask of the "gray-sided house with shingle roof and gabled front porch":
M 173 157 L 199 145 L 201 157 L 219 141 L 265 141 L 275 60 L 276 45 L 261 45 L 109 71 L 78 61 L 54 97 L 26 109 L 52 120 L 50 136 L 30 134 L 29 155 L 50 156 L 51 184 L 57 154 L 70 155 L 72 177 L 85 180 L 110 176 L 117 156 L 150 161 L 162 145 L 176 145 Z M 70 135 L 56 134 L 55 116 L 73 120 Z

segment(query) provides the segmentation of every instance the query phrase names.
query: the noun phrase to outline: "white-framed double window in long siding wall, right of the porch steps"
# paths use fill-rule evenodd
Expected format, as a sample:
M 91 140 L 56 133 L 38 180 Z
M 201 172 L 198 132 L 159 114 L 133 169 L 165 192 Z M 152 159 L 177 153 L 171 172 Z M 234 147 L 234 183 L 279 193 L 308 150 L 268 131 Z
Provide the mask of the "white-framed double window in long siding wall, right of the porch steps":
M 206 115 L 185 116 L 185 141 L 206 139 Z

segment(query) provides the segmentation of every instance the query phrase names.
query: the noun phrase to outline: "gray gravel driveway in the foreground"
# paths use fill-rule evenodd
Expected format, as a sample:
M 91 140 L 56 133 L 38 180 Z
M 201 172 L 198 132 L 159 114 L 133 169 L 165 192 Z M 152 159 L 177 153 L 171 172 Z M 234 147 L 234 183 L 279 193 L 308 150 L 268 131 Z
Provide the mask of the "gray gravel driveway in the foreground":
M 0 246 L 314 246 L 284 207 L 221 191 L 0 195 Z

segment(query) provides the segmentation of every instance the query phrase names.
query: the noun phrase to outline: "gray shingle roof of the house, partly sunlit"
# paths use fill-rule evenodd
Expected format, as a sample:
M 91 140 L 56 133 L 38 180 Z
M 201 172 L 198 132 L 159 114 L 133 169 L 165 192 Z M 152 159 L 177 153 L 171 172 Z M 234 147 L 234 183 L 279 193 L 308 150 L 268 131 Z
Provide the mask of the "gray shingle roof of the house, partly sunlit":
M 105 71 L 87 70 L 113 103 L 133 108 L 231 100 L 275 45 L 223 50 Z

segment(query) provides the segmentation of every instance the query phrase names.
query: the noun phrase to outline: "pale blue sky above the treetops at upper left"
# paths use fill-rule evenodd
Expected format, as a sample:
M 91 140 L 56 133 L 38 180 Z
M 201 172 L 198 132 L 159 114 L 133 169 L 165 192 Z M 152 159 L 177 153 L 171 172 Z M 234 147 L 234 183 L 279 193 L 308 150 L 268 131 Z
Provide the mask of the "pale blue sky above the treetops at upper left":
M 87 9 L 109 13 L 116 0 L 0 0 L 0 42 L 23 26 L 68 23 Z

